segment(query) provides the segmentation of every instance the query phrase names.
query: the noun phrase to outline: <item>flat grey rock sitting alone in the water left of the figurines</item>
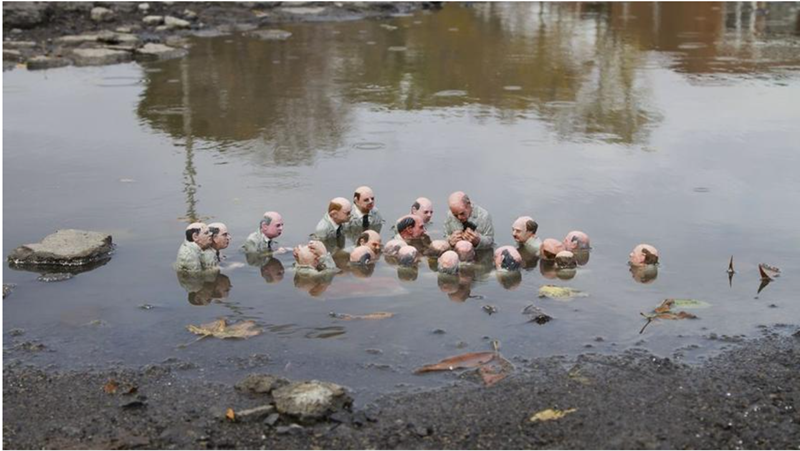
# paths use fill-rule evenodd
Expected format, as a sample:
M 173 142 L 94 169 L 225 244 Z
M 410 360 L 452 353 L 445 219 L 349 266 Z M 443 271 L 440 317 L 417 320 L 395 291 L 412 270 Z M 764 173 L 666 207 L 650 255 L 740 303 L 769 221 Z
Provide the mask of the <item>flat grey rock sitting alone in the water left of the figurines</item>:
M 95 49 L 76 52 L 79 50 Z M 28 64 L 30 67 L 30 62 Z M 112 250 L 111 235 L 66 229 L 46 236 L 40 243 L 14 249 L 8 261 L 16 265 L 81 266 L 108 259 Z

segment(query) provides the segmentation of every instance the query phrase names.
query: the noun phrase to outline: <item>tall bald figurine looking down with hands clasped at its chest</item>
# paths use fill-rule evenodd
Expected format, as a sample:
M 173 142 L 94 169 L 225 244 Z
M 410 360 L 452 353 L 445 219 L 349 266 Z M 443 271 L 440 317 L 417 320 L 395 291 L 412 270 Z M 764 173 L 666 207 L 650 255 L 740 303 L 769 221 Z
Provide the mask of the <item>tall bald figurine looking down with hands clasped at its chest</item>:
M 450 211 L 444 222 L 444 233 L 451 246 L 467 240 L 476 249 L 488 249 L 494 244 L 492 216 L 479 205 L 473 205 L 469 196 L 456 191 L 447 199 Z

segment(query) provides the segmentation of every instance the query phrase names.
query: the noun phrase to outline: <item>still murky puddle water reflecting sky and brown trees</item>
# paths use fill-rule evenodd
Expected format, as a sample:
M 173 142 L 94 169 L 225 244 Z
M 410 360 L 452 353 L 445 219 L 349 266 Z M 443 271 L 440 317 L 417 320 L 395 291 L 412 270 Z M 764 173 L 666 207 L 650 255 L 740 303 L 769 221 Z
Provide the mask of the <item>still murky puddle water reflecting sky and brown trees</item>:
M 107 231 L 118 246 L 61 282 L 4 267 L 17 285 L 3 301 L 5 357 L 62 368 L 174 358 L 198 377 L 267 371 L 368 399 L 448 383 L 413 369 L 494 339 L 517 363 L 634 347 L 696 361 L 727 337 L 796 323 L 798 12 L 758 5 L 448 4 L 288 24 L 284 42 L 195 38 L 188 57 L 147 66 L 4 73 L 4 255 L 59 228 Z M 571 280 L 537 265 L 513 289 L 493 273 L 440 289 L 426 264 L 405 280 L 383 261 L 370 278 L 295 286 L 290 254 L 262 270 L 238 251 L 265 210 L 283 214 L 281 243 L 294 245 L 328 199 L 363 184 L 390 221 L 430 197 L 435 238 L 447 195 L 464 190 L 492 213 L 499 244 L 527 214 L 543 238 L 580 229 L 594 250 Z M 201 294 L 171 269 L 188 218 L 233 234 L 225 276 Z M 647 284 L 626 265 L 640 242 L 663 260 Z M 783 272 L 757 294 L 761 262 Z M 589 296 L 538 299 L 546 283 Z M 668 297 L 711 307 L 640 334 L 640 312 Z M 527 323 L 530 304 L 555 319 Z M 395 316 L 329 315 L 376 311 Z M 194 342 L 185 330 L 220 317 L 264 333 Z M 23 341 L 46 348 L 13 349 Z

